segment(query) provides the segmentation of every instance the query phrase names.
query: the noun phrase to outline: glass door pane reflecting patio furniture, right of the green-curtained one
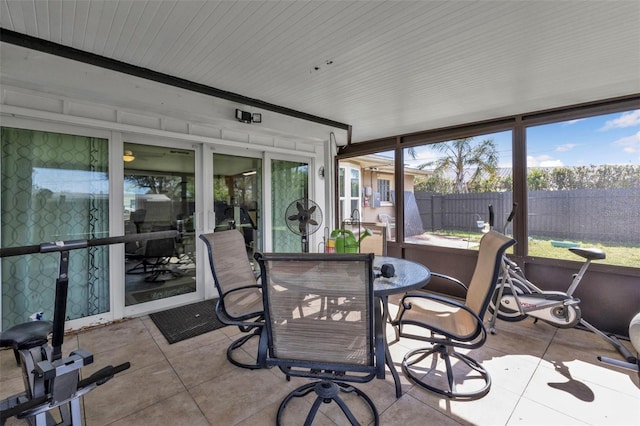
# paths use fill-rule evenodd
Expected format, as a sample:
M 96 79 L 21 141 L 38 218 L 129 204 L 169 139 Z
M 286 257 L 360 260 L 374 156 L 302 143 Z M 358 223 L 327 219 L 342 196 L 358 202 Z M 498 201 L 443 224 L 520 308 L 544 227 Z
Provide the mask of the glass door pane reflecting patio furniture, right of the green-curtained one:
M 196 291 L 195 151 L 124 144 L 125 305 Z M 176 231 L 159 239 L 143 235 Z

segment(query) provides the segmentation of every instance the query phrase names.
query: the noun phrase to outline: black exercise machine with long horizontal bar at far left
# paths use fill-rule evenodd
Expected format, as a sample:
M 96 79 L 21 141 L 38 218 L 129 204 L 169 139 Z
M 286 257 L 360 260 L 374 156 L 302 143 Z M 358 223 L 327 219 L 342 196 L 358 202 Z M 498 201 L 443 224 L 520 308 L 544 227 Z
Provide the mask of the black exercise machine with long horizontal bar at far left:
M 109 365 L 80 380 L 80 369 L 93 363 L 93 355 L 83 349 L 76 349 L 69 356 L 62 357 L 69 288 L 69 252 L 92 246 L 176 236 L 176 231 L 164 231 L 0 248 L 0 258 L 32 253 L 60 253 L 53 322 L 27 322 L 0 333 L 0 347 L 13 348 L 16 362 L 22 368 L 25 385 L 24 392 L 0 400 L 0 426 L 4 426 L 6 420 L 13 416 L 26 419 L 33 426 L 80 426 L 80 397 L 130 367 L 128 362 L 115 367 Z M 50 331 L 53 333 L 51 345 L 47 338 Z M 60 422 L 51 413 L 54 409 L 58 411 L 56 417 L 61 419 Z

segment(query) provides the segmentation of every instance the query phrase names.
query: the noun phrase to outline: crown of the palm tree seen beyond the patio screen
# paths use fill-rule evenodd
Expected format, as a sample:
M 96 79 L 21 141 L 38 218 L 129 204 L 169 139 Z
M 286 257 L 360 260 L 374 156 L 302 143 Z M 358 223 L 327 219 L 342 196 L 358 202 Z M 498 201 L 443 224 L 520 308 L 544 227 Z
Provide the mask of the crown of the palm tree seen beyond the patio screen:
M 434 144 L 431 148 L 444 156 L 421 164 L 418 168 L 435 166 L 434 173 L 439 175 L 452 171 L 458 193 L 467 192 L 469 182 L 485 173 L 493 175 L 498 167 L 498 153 L 493 139 L 484 139 L 479 143 L 474 143 L 473 138 L 456 139 Z

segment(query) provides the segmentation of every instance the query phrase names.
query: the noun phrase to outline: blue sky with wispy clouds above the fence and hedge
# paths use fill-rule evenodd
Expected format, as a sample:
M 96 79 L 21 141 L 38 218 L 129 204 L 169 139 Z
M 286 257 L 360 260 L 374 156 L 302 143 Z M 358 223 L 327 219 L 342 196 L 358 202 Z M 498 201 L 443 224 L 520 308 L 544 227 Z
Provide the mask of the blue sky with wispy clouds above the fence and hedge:
M 480 135 L 493 138 L 500 155 L 500 167 L 511 167 L 511 132 Z M 640 109 L 600 115 L 580 120 L 529 127 L 527 129 L 529 167 L 560 167 L 599 164 L 640 164 Z M 410 166 L 431 161 L 438 153 L 416 149 Z

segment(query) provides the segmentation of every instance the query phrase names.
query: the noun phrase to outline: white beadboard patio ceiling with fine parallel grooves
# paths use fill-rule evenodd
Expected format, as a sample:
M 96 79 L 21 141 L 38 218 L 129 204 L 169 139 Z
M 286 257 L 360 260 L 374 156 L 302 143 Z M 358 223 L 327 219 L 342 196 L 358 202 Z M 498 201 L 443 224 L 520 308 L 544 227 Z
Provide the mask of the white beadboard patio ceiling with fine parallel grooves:
M 2 28 L 353 127 L 640 93 L 640 1 L 0 0 Z

